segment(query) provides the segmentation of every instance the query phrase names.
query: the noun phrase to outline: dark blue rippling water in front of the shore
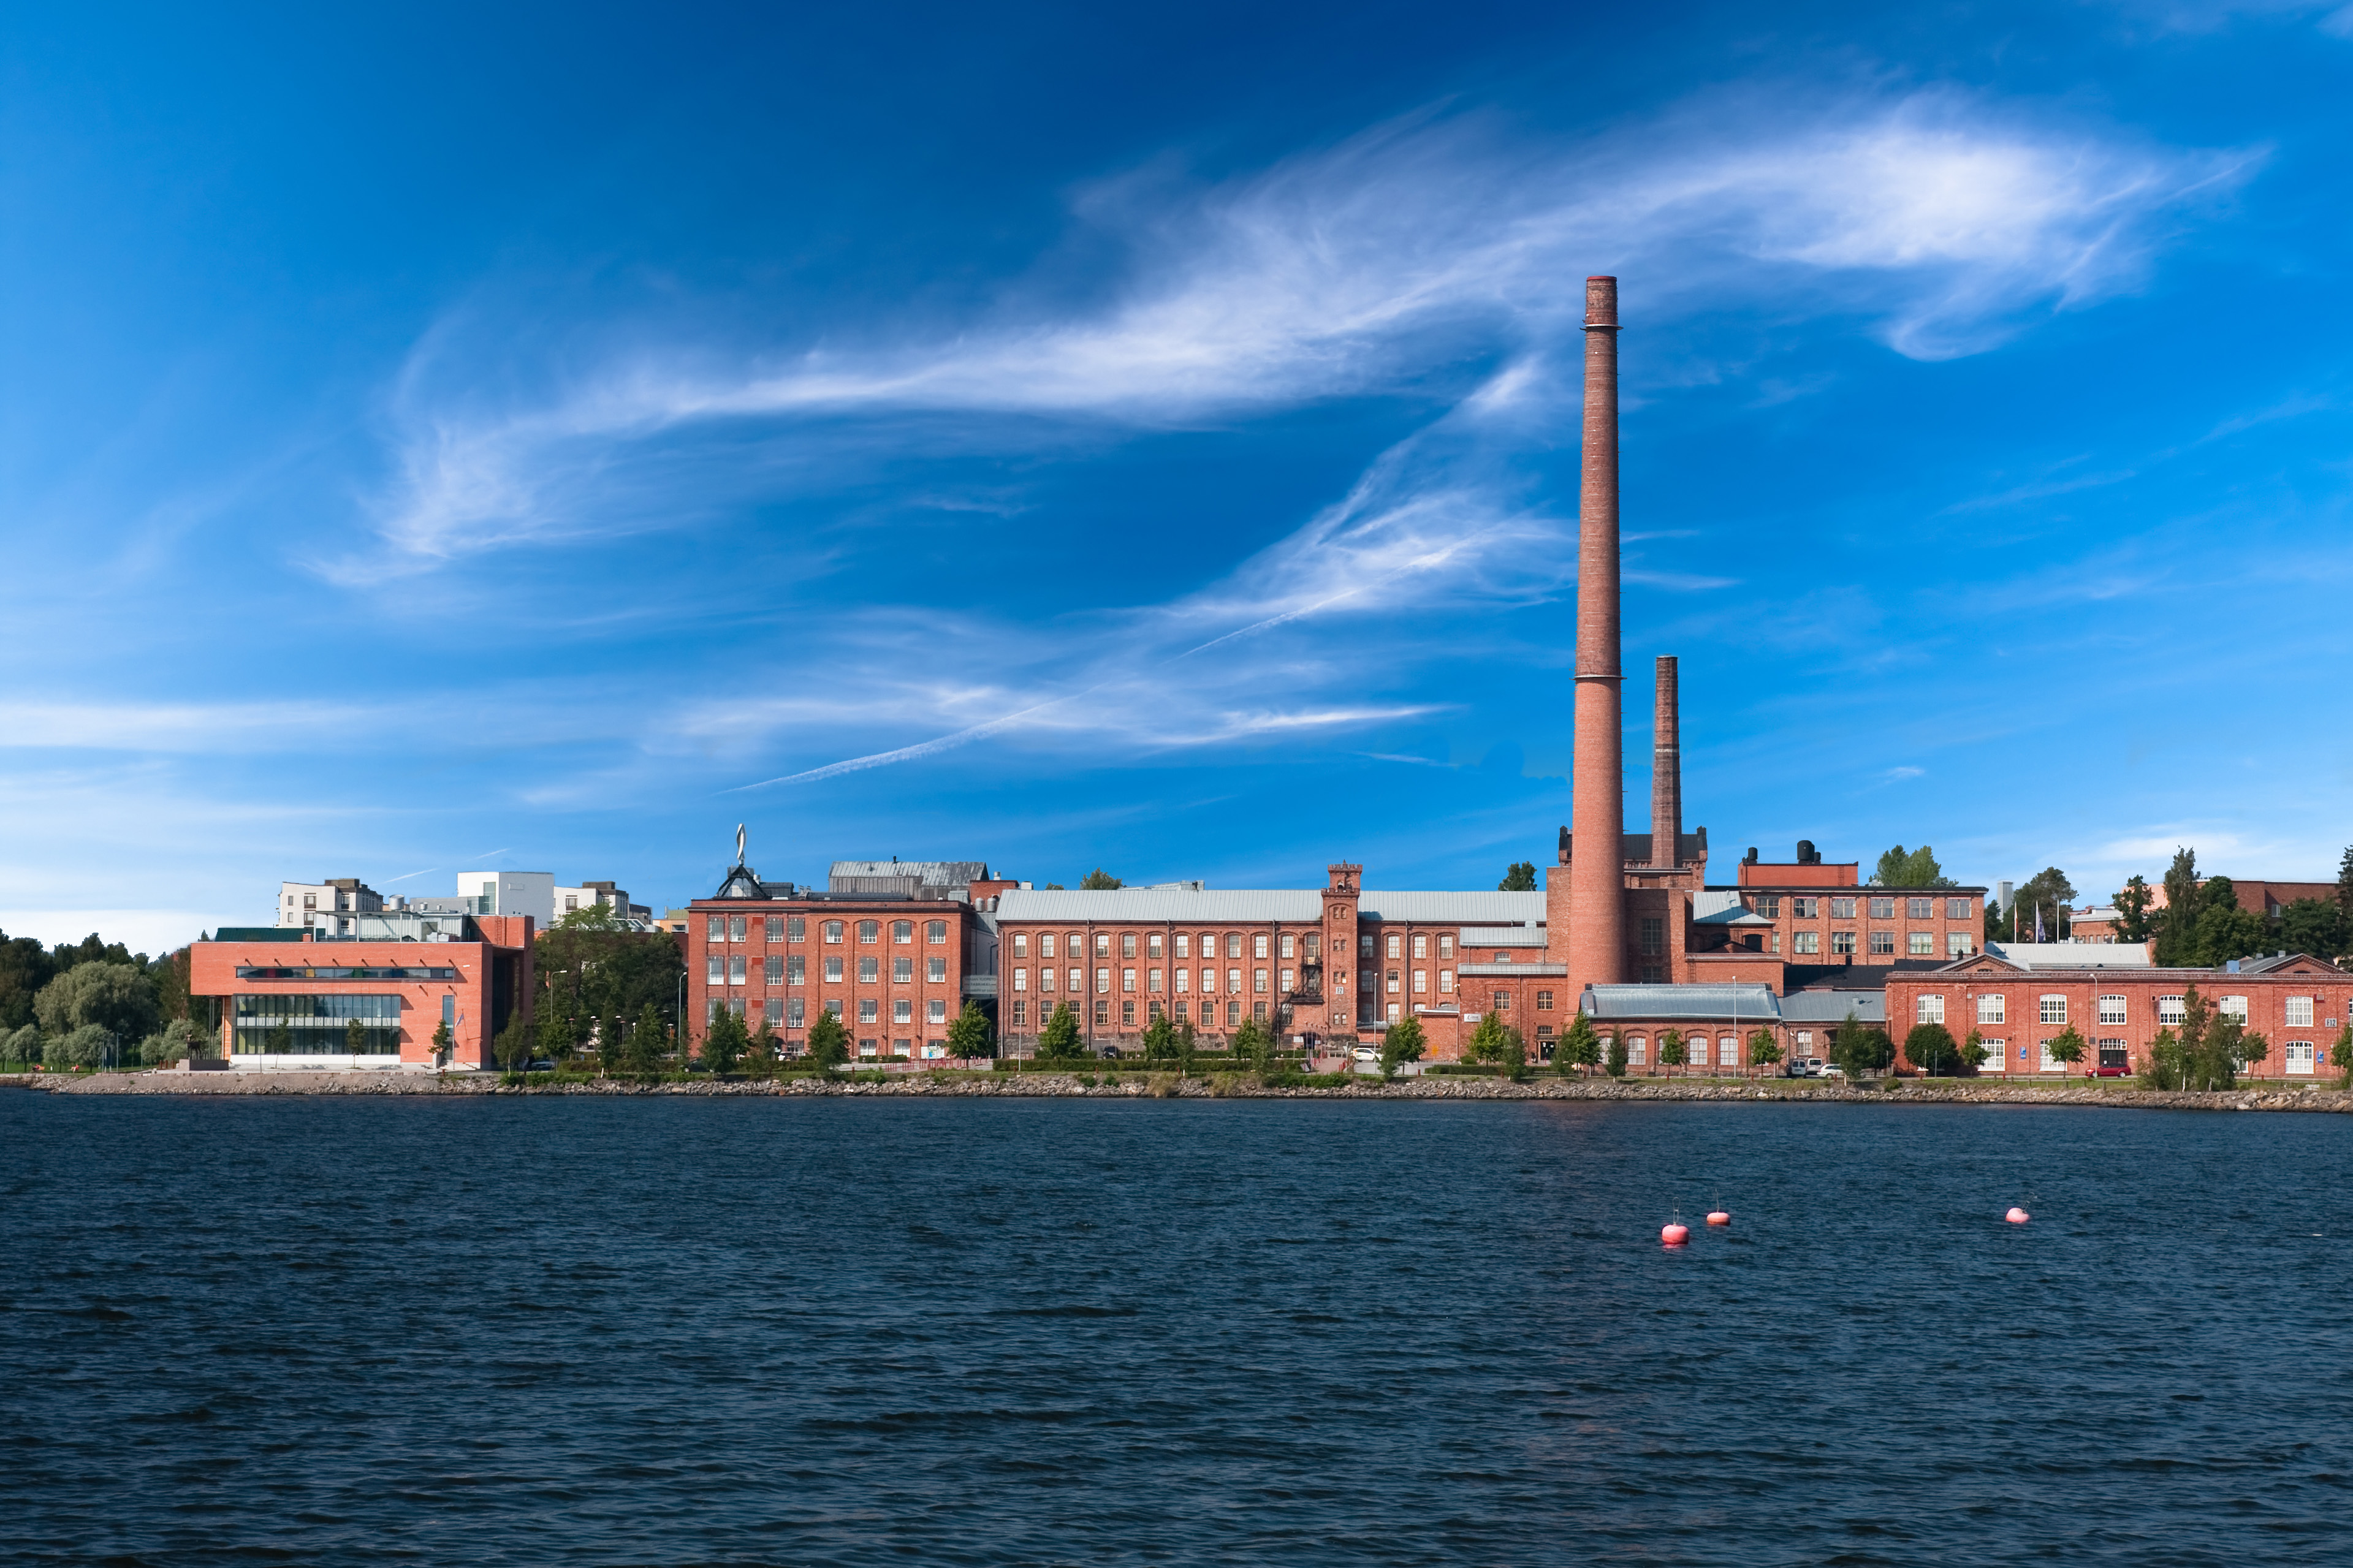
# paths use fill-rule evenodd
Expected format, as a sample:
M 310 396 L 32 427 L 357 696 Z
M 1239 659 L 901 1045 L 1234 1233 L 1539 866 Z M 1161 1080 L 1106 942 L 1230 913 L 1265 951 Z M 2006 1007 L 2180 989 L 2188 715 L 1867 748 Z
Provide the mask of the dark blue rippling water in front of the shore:
M 0 1093 L 0 1192 L 12 1563 L 2353 1559 L 2339 1117 Z

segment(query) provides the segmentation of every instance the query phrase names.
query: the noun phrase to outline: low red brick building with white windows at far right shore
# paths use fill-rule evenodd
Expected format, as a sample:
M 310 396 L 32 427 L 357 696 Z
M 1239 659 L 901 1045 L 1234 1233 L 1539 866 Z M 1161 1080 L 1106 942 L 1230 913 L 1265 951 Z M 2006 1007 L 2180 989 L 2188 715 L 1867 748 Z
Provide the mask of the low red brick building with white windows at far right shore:
M 1887 980 L 1887 1032 L 1904 1037 L 1941 1023 L 1953 1039 L 1977 1030 L 2000 1048 L 1991 1072 L 2061 1072 L 2047 1046 L 2071 1025 L 2085 1039 L 2073 1072 L 2141 1072 L 2158 1030 L 2179 1025 L 2191 987 L 2271 1046 L 2249 1077 L 2308 1079 L 2327 1070 L 2329 1044 L 2353 1018 L 2353 976 L 2308 954 L 2238 959 L 2224 969 L 2148 969 L 2141 964 L 2042 969 L 1995 952 L 1944 969 L 1901 971 Z M 1908 1063 L 1906 1063 L 1908 1067 Z

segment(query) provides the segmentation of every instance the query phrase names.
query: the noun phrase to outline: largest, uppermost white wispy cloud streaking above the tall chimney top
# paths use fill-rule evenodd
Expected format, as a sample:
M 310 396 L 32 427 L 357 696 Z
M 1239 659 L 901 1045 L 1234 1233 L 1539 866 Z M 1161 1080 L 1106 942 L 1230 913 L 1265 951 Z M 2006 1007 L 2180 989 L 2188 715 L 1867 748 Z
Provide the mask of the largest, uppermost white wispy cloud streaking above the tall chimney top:
M 659 527 L 729 482 L 807 484 L 840 421 L 1169 425 L 1344 395 L 1428 395 L 1501 353 L 1471 411 L 1508 409 L 1574 339 L 1581 277 L 1621 270 L 1652 322 L 1727 303 L 1864 315 L 1946 357 L 2146 273 L 2186 202 L 2254 153 L 2148 146 L 1958 92 L 1739 89 L 1579 146 L 1421 118 L 1212 188 L 1158 176 L 1085 193 L 1125 242 L 1108 303 L 1012 292 L 948 329 L 871 322 L 727 355 L 640 348 L 522 407 L 447 393 L 466 336 L 435 334 L 395 400 L 398 480 L 374 529 L 412 564 L 534 536 Z M 824 442 L 699 449 L 828 421 Z M 932 425 L 920 437 L 939 442 Z M 969 435 L 960 440 L 974 440 Z M 755 477 L 715 477 L 755 468 Z M 381 571 L 384 562 L 374 562 Z

